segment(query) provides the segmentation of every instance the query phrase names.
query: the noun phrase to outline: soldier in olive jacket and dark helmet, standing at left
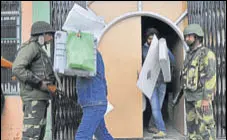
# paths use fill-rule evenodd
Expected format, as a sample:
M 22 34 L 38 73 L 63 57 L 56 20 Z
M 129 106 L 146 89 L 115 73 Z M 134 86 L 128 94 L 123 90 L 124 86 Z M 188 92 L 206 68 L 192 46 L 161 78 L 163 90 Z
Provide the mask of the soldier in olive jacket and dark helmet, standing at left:
M 20 82 L 23 102 L 24 128 L 22 140 L 42 140 L 45 134 L 50 93 L 48 84 L 55 81 L 52 63 L 42 46 L 53 39 L 49 23 L 37 21 L 32 25 L 30 39 L 20 47 L 13 63 L 13 74 Z

